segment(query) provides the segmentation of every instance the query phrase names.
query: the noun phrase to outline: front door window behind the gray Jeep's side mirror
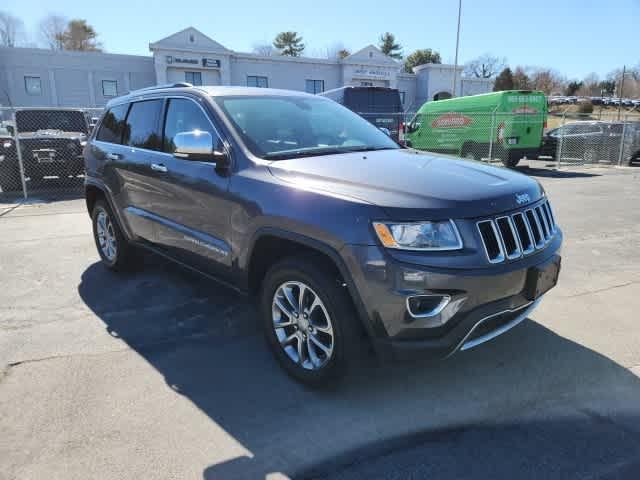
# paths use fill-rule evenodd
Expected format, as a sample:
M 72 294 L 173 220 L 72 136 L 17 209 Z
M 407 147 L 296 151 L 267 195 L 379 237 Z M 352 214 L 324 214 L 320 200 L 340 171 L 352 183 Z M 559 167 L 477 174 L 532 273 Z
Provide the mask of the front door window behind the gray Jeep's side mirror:
M 176 136 L 176 133 L 192 132 L 193 130 L 209 132 L 213 138 L 213 149 L 223 150 L 218 135 L 211 127 L 211 122 L 195 102 L 184 98 L 169 100 L 164 125 L 164 151 L 168 153 L 175 151 L 173 137 Z

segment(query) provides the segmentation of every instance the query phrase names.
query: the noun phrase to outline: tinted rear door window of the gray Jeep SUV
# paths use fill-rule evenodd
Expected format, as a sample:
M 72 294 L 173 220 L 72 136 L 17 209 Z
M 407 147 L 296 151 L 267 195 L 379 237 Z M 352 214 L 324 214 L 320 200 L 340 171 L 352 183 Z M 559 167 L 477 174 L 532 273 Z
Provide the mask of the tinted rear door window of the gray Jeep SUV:
M 122 143 L 132 147 L 160 150 L 159 125 L 162 100 L 146 100 L 131 104 Z

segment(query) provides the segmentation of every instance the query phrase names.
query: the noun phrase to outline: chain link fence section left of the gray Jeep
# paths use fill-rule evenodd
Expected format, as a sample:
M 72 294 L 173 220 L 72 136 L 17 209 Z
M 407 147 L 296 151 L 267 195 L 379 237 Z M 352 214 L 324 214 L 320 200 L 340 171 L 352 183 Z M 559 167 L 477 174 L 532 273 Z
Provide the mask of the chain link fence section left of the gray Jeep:
M 102 109 L 0 108 L 0 199 L 81 193 L 82 150 Z

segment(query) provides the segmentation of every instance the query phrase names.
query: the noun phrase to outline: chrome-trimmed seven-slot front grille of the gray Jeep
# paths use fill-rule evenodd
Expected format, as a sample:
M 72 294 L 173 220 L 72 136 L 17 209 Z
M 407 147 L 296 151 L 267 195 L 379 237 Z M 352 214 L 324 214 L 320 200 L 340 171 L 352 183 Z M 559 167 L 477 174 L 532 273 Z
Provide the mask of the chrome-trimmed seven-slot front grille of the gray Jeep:
M 476 225 L 489 263 L 515 260 L 543 249 L 558 228 L 547 200 L 511 215 L 480 220 Z

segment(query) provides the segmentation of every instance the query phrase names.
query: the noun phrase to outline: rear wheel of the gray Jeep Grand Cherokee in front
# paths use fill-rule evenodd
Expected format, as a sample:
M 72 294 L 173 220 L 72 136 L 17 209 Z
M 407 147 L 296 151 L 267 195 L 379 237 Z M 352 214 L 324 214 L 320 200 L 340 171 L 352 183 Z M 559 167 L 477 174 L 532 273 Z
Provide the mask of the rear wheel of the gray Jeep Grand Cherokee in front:
M 125 271 L 133 266 L 134 247 L 124 237 L 111 207 L 96 200 L 91 212 L 93 239 L 102 263 L 110 270 Z

